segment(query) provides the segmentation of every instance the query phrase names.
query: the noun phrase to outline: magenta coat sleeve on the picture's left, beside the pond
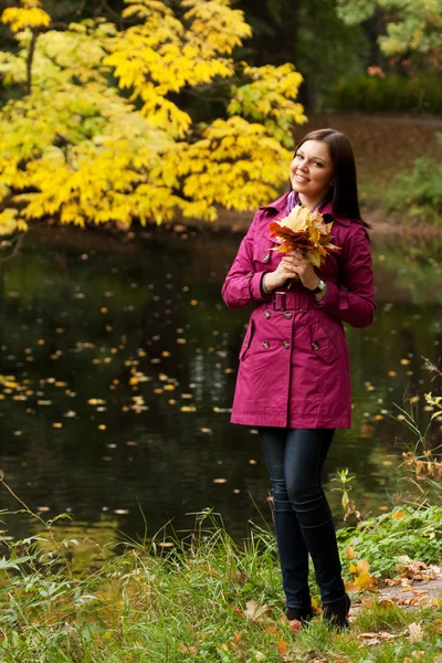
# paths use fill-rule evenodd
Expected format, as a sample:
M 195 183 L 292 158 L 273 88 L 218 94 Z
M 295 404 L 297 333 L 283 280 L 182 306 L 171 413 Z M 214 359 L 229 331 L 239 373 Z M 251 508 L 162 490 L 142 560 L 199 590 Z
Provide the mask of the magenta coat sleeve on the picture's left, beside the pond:
M 253 245 L 261 213 L 256 212 L 221 290 L 222 298 L 231 308 L 257 304 L 269 298 L 261 290 L 265 272 L 255 272 L 253 263 Z

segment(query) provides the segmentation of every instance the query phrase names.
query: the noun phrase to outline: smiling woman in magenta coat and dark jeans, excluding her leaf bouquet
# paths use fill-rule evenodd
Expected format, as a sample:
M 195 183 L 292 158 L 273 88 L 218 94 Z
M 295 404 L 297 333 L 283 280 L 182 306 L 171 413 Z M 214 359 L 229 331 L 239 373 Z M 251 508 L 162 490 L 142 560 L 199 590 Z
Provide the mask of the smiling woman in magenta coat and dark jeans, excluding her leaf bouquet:
M 359 211 L 355 158 L 334 129 L 312 131 L 291 165 L 292 191 L 260 208 L 222 287 L 228 306 L 254 305 L 241 351 L 233 423 L 259 428 L 272 483 L 286 617 L 308 621 L 308 555 L 324 619 L 348 627 L 332 513 L 322 471 L 336 428 L 350 428 L 350 378 L 343 322 L 370 325 L 371 251 Z M 299 251 L 273 251 L 271 221 L 295 204 L 332 222 L 320 269 Z

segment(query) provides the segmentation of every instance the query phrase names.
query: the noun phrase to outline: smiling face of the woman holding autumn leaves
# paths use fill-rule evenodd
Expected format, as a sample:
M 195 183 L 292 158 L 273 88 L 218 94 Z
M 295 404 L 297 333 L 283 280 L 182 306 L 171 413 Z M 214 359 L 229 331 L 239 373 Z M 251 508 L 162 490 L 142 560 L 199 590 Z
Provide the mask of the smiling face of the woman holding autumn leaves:
M 306 140 L 297 149 L 291 165 L 291 181 L 305 202 L 319 203 L 325 198 L 333 181 L 333 164 L 323 140 Z

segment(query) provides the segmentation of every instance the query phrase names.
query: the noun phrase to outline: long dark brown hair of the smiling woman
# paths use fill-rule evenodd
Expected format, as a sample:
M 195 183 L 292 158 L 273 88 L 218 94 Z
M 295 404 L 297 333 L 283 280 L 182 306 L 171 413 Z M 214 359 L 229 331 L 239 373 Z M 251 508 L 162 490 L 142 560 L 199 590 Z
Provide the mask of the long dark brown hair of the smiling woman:
M 317 129 L 304 136 L 296 149 L 307 140 L 322 140 L 329 149 L 334 170 L 334 185 L 330 190 L 333 211 L 370 228 L 362 220 L 359 209 L 355 155 L 348 137 L 336 129 Z

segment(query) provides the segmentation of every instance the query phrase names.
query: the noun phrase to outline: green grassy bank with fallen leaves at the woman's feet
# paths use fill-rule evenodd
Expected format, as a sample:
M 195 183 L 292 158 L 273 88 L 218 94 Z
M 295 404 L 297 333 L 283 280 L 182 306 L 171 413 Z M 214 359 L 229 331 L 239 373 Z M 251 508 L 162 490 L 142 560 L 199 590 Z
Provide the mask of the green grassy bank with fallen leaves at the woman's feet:
M 296 624 L 291 628 L 282 618 L 270 532 L 254 527 L 239 546 L 210 514 L 201 514 L 181 540 L 133 544 L 117 556 L 97 549 L 107 561 L 98 570 L 80 571 L 72 555 L 78 541 L 57 540 L 56 524 L 50 522 L 39 537 L 3 540 L 9 549 L 0 560 L 0 660 L 434 663 L 442 661 L 442 601 L 404 610 L 400 600 L 377 592 L 385 578 L 409 582 L 411 568 L 422 570 L 403 556 L 439 561 L 441 541 L 442 507 L 396 509 L 358 529 L 340 530 L 344 573 L 356 607 L 351 629 L 328 631 L 318 611 L 296 634 Z

